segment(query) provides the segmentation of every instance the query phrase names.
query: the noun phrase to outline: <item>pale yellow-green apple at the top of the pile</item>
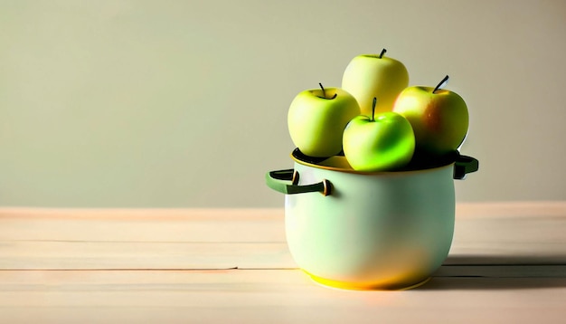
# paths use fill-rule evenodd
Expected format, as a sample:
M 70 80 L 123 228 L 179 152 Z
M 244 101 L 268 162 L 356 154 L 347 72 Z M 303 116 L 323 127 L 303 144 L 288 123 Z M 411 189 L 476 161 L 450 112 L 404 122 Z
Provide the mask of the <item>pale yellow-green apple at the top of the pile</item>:
M 403 63 L 379 55 L 364 54 L 354 57 L 346 66 L 342 89 L 352 93 L 360 104 L 363 115 L 372 114 L 372 100 L 377 97 L 376 111 L 391 111 L 399 93 L 409 85 L 409 72 Z

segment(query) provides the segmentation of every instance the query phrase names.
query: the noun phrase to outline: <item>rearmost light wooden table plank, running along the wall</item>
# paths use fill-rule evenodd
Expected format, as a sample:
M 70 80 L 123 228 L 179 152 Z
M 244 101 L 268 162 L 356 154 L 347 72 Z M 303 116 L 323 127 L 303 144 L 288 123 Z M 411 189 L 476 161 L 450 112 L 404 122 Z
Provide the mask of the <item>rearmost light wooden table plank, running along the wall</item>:
M 526 218 L 534 222 L 547 218 L 563 222 L 566 219 L 566 202 L 459 203 L 456 216 L 458 222 L 467 224 L 462 226 L 464 231 L 470 226 L 468 224 L 486 218 L 490 220 Z M 0 227 L 0 240 L 33 238 L 68 241 L 143 240 L 145 242 L 285 241 L 283 209 L 0 207 L 0 224 L 5 224 Z M 204 229 L 206 231 L 203 231 Z M 489 233 L 490 228 L 485 227 L 474 233 L 481 234 L 484 231 Z M 515 232 L 505 231 L 505 234 L 513 233 Z M 558 234 L 557 231 L 554 233 Z M 561 235 L 561 238 L 564 240 L 564 235 Z

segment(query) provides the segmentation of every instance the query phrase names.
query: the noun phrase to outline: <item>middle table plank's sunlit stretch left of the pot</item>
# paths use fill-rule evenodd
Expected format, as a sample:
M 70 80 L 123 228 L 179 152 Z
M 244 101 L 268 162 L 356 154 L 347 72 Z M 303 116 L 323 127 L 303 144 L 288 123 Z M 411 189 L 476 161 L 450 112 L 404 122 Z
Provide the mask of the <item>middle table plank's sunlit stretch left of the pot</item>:
M 0 243 L 0 269 L 296 268 L 287 243 Z

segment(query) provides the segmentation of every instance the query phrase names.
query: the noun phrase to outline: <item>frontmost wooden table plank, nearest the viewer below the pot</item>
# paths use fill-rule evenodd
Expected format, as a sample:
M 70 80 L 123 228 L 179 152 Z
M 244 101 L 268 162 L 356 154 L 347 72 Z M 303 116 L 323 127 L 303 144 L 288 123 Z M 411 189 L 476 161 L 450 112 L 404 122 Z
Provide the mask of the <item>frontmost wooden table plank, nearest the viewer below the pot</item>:
M 342 291 L 297 270 L 0 272 L 5 323 L 533 323 L 566 315 L 565 278 L 433 278 Z

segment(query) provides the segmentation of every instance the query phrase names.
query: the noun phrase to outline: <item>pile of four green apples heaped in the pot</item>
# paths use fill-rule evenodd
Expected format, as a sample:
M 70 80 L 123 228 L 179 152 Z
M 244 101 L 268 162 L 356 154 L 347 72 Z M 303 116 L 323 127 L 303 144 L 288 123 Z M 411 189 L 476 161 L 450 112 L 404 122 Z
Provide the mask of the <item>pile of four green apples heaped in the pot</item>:
M 300 152 L 344 154 L 358 171 L 426 167 L 457 151 L 467 136 L 466 102 L 436 87 L 409 86 L 400 61 L 380 54 L 354 57 L 340 88 L 301 91 L 288 110 L 288 130 Z

